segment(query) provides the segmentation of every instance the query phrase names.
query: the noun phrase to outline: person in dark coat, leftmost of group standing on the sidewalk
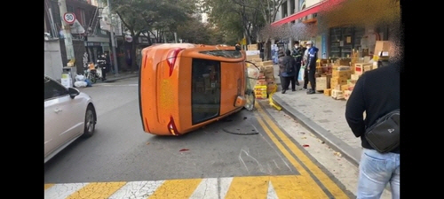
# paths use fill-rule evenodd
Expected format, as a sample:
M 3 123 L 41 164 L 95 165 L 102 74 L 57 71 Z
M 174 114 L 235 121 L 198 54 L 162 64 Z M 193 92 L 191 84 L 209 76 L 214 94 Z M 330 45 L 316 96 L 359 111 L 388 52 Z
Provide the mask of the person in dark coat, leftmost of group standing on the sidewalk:
M 291 57 L 291 51 L 285 51 L 285 57 L 279 58 L 279 74 L 281 76 L 282 94 L 289 89 L 289 83 L 291 82 L 291 88 L 296 90 L 295 74 L 296 74 L 296 61 Z

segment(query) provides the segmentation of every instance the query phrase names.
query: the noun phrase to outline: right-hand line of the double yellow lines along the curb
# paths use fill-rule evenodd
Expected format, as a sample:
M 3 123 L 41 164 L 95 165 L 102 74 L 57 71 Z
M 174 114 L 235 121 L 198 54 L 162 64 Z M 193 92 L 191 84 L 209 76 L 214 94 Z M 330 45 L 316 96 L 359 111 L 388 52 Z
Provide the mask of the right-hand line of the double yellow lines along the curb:
M 289 150 L 292 151 L 301 160 L 301 162 L 308 168 L 308 170 L 310 170 L 313 173 L 313 175 L 318 180 L 321 181 L 322 185 L 324 185 L 325 188 L 329 189 L 329 192 L 331 193 L 331 195 L 335 196 L 335 198 L 337 198 L 337 199 L 349 198 L 345 194 L 345 192 L 341 188 L 339 188 L 337 186 L 337 184 L 335 182 L 333 182 L 333 180 L 331 180 L 329 178 L 329 176 L 327 176 L 327 174 L 325 174 L 325 172 L 322 172 L 321 169 L 317 165 L 313 164 L 312 160 L 309 157 L 305 156 L 305 154 L 304 154 L 304 152 L 302 152 L 302 150 L 297 148 L 295 143 L 292 142 L 289 139 L 289 137 L 287 137 L 285 134 L 283 134 L 281 129 L 279 129 L 279 127 L 276 126 L 276 124 L 274 124 L 273 120 L 271 120 L 268 117 L 268 115 L 264 112 L 264 110 L 262 109 L 260 104 L 258 104 L 258 111 L 259 111 L 259 113 L 261 113 L 260 116 L 266 120 L 266 123 L 274 130 L 274 133 L 276 133 L 278 135 L 278 137 L 281 139 L 281 142 L 284 142 L 285 145 L 287 145 L 289 147 Z M 298 168 L 297 168 L 297 171 L 299 171 Z M 301 172 L 301 174 L 302 174 L 302 172 Z

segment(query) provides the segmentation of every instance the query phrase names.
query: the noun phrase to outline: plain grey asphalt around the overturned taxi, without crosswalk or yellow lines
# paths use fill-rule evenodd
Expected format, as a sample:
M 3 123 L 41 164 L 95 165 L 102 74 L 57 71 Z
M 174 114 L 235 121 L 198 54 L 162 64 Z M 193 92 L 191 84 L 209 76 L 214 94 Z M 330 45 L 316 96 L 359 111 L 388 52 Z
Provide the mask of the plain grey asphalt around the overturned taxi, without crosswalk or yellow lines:
M 96 105 L 96 132 L 52 158 L 45 183 L 298 174 L 267 136 L 254 134 L 260 126 L 251 111 L 183 136 L 156 136 L 142 130 L 137 79 L 81 91 Z

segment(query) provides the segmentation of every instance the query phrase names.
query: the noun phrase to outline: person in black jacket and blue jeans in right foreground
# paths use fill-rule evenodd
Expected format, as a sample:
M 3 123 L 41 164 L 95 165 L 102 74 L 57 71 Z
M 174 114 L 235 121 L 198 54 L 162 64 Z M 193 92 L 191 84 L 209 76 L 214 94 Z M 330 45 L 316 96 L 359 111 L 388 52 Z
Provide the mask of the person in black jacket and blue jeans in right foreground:
M 400 198 L 400 148 L 379 153 L 365 139 L 367 127 L 396 109 L 400 109 L 399 62 L 366 72 L 356 82 L 346 104 L 345 119 L 353 134 L 361 137 L 363 148 L 358 198 L 380 198 L 387 183 L 391 184 L 392 198 Z

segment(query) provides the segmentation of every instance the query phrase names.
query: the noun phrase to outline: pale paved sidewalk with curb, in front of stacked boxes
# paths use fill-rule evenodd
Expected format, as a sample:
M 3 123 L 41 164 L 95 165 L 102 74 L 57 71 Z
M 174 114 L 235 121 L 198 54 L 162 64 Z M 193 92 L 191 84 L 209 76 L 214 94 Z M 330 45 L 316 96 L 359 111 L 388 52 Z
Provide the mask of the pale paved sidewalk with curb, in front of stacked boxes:
M 278 76 L 278 66 L 274 65 L 274 79 L 278 82 L 278 91 L 274 93 L 274 103 L 282 107 L 293 119 L 318 136 L 332 149 L 340 152 L 354 165 L 361 160 L 361 138 L 354 136 L 345 120 L 345 100 L 335 100 L 323 93 L 307 95 L 305 90 L 299 90 L 304 82 L 299 82 L 297 91 L 289 89 L 281 94 Z M 290 86 L 291 87 L 291 86 Z

